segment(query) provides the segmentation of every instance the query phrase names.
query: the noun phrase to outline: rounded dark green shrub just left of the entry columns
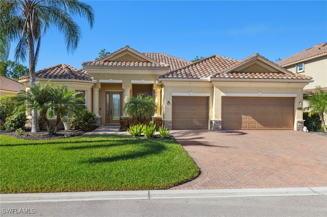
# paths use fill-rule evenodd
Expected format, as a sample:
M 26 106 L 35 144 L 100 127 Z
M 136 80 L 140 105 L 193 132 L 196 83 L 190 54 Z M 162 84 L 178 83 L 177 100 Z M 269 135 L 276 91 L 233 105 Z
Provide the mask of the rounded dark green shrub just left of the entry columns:
M 83 110 L 78 117 L 72 119 L 72 129 L 91 130 L 96 122 L 96 114 Z

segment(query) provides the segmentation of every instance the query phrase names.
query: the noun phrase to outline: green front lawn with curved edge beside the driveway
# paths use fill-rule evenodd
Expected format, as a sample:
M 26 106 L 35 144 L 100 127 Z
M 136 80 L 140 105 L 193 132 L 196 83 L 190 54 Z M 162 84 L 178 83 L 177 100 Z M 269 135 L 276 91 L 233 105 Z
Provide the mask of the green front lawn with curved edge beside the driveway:
M 168 189 L 199 169 L 175 140 L 90 135 L 29 141 L 0 135 L 0 192 Z

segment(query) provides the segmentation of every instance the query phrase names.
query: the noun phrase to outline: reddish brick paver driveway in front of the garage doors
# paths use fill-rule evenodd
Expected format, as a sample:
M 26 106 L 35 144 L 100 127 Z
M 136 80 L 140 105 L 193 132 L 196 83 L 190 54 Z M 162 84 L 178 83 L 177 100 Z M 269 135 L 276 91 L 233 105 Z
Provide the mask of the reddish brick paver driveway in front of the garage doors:
M 293 130 L 172 130 L 201 170 L 171 189 L 327 186 L 327 137 Z

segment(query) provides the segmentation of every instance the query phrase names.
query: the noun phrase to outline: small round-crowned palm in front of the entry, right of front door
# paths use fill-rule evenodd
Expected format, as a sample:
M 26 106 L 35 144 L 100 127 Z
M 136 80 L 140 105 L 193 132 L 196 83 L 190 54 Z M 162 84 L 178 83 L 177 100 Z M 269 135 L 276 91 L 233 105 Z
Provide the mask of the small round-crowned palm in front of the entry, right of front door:
M 138 123 L 143 119 L 150 119 L 157 109 L 157 105 L 151 96 L 138 95 L 129 98 L 124 106 L 125 112 L 132 116 Z

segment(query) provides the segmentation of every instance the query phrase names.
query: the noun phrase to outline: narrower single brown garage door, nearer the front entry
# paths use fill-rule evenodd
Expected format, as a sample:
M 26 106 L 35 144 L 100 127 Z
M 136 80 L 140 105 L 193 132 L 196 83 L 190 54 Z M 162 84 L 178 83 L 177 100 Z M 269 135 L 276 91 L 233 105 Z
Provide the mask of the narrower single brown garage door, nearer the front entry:
M 208 129 L 208 97 L 173 96 L 173 129 Z

